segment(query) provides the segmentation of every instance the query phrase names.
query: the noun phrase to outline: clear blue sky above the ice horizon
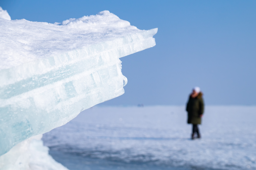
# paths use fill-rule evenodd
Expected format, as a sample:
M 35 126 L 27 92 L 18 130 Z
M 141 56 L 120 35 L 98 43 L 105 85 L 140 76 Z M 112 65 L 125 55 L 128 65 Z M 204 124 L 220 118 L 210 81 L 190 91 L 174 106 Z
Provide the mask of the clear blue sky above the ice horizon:
M 209 105 L 256 105 L 256 1 L 13 1 L 12 19 L 62 22 L 109 10 L 156 46 L 121 58 L 125 94 L 108 105 L 183 105 L 199 86 Z

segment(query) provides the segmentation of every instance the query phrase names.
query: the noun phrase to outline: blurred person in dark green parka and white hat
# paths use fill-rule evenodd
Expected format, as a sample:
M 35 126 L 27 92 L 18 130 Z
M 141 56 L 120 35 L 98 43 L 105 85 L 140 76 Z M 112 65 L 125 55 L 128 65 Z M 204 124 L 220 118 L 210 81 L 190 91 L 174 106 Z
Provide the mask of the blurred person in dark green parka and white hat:
M 189 95 L 186 111 L 188 112 L 188 124 L 192 124 L 191 139 L 195 139 L 195 133 L 197 138 L 200 138 L 198 124 L 201 124 L 201 119 L 204 114 L 204 100 L 202 98 L 202 92 L 199 87 L 193 88 L 192 93 Z

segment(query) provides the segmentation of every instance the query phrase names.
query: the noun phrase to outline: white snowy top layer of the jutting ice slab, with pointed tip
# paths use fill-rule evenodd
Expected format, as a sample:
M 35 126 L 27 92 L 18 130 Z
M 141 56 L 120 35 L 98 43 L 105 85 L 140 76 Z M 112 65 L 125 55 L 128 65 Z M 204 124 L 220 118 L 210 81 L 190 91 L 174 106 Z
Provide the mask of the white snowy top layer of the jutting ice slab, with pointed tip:
M 152 36 L 157 32 L 157 29 L 139 30 L 109 11 L 78 19 L 70 18 L 62 25 L 25 19 L 0 21 L 0 70 L 27 62 L 54 64 L 52 62 L 55 61 L 58 67 L 65 64 L 58 63 L 63 55 L 76 56 L 77 59 L 106 50 L 117 50 L 121 53 L 118 54 L 120 58 L 153 47 L 155 41 Z

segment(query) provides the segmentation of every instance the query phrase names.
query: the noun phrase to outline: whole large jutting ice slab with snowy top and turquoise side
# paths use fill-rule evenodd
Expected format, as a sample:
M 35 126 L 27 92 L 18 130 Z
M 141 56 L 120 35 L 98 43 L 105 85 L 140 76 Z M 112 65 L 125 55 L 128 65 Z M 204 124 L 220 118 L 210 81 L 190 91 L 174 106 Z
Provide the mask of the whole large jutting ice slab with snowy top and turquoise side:
M 155 46 L 109 11 L 59 24 L 0 18 L 0 155 L 122 95 L 119 58 Z

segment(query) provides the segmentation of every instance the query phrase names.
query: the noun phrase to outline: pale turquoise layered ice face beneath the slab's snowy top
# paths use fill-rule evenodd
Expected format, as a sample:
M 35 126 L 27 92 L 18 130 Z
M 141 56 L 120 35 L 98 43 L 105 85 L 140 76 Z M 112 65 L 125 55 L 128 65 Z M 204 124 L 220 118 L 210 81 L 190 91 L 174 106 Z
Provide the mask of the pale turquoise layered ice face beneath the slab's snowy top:
M 103 62 L 101 56 L 93 60 L 90 66 L 88 61 L 67 65 L 0 89 L 0 98 L 6 101 L 0 107 L 1 153 L 124 93 L 123 81 L 127 79 L 121 73 L 121 61 Z

